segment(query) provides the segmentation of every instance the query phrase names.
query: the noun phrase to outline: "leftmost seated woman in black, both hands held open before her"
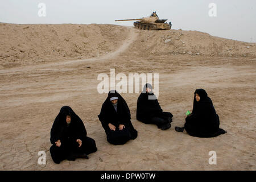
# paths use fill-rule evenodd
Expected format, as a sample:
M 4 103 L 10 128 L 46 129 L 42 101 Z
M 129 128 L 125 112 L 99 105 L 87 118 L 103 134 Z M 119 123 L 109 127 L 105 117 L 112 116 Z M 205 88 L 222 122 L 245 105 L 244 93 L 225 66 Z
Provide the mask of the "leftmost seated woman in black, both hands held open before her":
M 53 122 L 50 148 L 53 162 L 62 160 L 88 159 L 88 154 L 97 151 L 96 143 L 86 137 L 84 123 L 69 106 L 63 106 Z

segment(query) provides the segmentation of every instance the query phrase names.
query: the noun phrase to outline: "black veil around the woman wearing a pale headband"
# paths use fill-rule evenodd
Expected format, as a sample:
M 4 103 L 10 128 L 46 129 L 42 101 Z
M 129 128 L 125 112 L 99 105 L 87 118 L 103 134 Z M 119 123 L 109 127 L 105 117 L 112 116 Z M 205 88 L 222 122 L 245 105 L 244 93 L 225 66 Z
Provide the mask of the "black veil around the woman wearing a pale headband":
M 118 97 L 117 111 L 115 111 L 114 106 L 110 101 L 110 98 L 112 97 Z M 137 131 L 131 123 L 130 109 L 126 101 L 116 90 L 109 91 L 108 97 L 102 104 L 101 113 L 98 115 L 98 118 L 100 119 L 101 125 L 104 127 L 105 131 L 108 129 L 109 123 L 112 123 L 115 127 L 125 125 L 131 133 L 131 138 L 137 138 Z

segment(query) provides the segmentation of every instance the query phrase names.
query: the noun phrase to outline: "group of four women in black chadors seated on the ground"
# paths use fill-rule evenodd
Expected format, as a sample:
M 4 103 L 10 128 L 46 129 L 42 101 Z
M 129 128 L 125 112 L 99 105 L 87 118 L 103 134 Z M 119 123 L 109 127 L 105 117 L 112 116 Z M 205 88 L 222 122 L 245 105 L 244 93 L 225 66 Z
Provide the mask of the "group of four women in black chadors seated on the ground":
M 183 132 L 185 129 L 189 135 L 202 138 L 225 134 L 226 131 L 219 127 L 220 119 L 207 92 L 197 89 L 194 95 L 192 113 L 185 118 L 184 126 L 176 126 L 175 131 Z M 152 85 L 145 84 L 137 101 L 137 120 L 167 130 L 171 127 L 172 117 L 170 112 L 161 109 L 152 92 Z M 111 144 L 125 144 L 138 136 L 131 123 L 130 109 L 116 90 L 110 90 L 98 118 L 105 130 L 106 139 Z M 55 163 L 64 159 L 88 159 L 88 154 L 97 151 L 95 140 L 87 137 L 84 123 L 69 106 L 61 107 L 53 122 L 50 140 L 50 153 Z

